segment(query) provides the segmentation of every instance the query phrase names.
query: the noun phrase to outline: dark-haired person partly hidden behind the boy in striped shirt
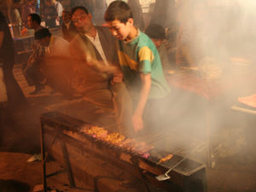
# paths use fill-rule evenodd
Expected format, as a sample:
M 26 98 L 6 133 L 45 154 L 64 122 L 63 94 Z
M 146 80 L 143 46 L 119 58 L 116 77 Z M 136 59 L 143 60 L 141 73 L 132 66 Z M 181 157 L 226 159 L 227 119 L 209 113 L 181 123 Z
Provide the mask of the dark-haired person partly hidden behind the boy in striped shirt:
M 169 60 L 166 44 L 164 42 L 166 38 L 164 27 L 158 24 L 150 24 L 145 30 L 145 33 L 149 38 L 151 38 L 155 47 L 157 48 L 160 55 L 160 60 L 162 62 L 163 71 L 166 74 L 168 69 L 172 67 L 172 63 Z M 173 64 L 175 65 L 175 63 Z

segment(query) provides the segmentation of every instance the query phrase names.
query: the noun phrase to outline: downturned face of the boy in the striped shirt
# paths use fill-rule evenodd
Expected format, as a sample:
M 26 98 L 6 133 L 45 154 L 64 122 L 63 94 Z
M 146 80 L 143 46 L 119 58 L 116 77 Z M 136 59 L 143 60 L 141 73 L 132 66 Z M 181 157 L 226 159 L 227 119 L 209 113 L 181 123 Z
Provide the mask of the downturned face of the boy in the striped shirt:
M 108 28 L 115 38 L 119 40 L 127 40 L 133 26 L 133 19 L 127 20 L 126 23 L 121 23 L 119 20 L 108 21 Z

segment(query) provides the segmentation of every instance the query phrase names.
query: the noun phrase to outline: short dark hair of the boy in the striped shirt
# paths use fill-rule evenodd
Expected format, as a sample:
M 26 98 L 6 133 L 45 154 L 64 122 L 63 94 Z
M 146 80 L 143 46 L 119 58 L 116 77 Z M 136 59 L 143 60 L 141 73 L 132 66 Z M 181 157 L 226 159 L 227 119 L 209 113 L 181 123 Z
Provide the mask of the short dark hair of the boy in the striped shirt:
M 104 15 L 106 21 L 119 20 L 121 23 L 126 23 L 130 18 L 133 18 L 131 8 L 123 1 L 110 3 Z

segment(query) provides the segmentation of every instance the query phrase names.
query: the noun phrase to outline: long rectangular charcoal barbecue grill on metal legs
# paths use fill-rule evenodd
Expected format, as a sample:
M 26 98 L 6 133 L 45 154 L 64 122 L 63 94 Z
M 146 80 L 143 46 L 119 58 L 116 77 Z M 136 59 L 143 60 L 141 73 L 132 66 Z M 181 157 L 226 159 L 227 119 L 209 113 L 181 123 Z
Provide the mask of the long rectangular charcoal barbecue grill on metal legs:
M 75 187 L 73 178 L 73 165 L 69 160 L 67 144 L 74 148 L 84 150 L 87 154 L 108 160 L 114 166 L 125 168 L 134 177 L 143 179 L 145 190 L 149 191 L 147 183 L 153 183 L 158 187 L 170 191 L 175 183 L 183 191 L 207 191 L 206 166 L 187 156 L 173 154 L 170 160 L 160 163 L 160 157 L 169 154 L 165 150 L 150 148 L 148 156 L 139 154 L 127 148 L 122 148 L 113 143 L 81 132 L 82 127 L 92 125 L 79 119 L 73 119 L 63 113 L 49 112 L 41 115 L 41 152 L 43 163 L 44 192 L 47 191 L 46 160 L 55 141 L 61 141 L 61 152 L 64 158 L 65 171 L 67 172 L 69 184 Z M 46 143 L 46 137 L 51 136 L 50 142 Z M 48 148 L 46 151 L 45 149 Z M 51 153 L 58 160 L 58 154 Z M 193 185 L 193 188 L 191 187 Z

